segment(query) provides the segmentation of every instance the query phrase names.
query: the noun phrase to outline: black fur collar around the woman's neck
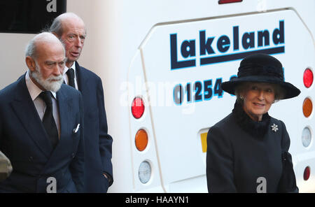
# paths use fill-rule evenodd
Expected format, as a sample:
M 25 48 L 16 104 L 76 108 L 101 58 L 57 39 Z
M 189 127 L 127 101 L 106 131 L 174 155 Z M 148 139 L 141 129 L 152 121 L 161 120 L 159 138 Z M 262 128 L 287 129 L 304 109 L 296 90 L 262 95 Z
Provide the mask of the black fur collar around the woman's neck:
M 237 124 L 239 124 L 239 127 L 244 129 L 248 134 L 257 138 L 263 138 L 263 136 L 265 136 L 270 122 L 268 113 L 262 115 L 261 121 L 255 122 L 245 113 L 241 103 L 236 101 L 232 114 L 235 117 Z

